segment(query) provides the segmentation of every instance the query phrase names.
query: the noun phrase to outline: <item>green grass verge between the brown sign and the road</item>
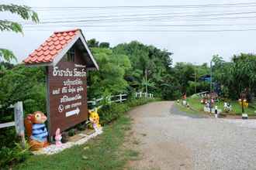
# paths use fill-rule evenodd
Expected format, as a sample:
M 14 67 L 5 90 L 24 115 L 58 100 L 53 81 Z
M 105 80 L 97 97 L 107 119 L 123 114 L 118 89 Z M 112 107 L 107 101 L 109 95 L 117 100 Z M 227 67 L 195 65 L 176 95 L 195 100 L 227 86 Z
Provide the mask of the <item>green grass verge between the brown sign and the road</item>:
M 74 146 L 56 155 L 31 156 L 13 169 L 123 169 L 137 151 L 123 148 L 130 117 L 123 115 L 106 125 L 103 134 L 85 145 Z

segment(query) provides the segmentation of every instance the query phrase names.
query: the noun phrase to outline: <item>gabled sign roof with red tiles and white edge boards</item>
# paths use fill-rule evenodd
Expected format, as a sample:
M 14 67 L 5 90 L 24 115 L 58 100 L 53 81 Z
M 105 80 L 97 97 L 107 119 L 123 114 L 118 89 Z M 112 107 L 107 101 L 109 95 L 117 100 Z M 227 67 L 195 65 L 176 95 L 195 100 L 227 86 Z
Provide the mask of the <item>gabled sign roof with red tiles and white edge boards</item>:
M 67 50 L 73 46 L 75 42 L 81 39 L 81 43 L 85 46 L 88 52 L 89 60 L 92 63 L 91 66 L 95 67 L 97 70 L 99 66 L 95 62 L 92 53 L 88 49 L 88 45 L 85 41 L 81 29 L 72 29 L 61 32 L 54 32 L 38 49 L 35 49 L 33 53 L 23 60 L 26 65 L 29 66 L 50 66 L 56 65 L 61 58 L 67 53 Z M 87 59 L 88 60 L 88 59 Z

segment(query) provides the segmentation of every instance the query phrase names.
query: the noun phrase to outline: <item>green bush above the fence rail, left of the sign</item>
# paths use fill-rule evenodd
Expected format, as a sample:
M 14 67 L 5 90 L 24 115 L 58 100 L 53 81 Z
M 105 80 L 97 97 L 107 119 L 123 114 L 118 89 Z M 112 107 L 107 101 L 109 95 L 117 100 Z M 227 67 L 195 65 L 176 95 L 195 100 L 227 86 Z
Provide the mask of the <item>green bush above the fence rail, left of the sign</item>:
M 22 65 L 0 74 L 0 105 L 2 113 L 9 112 L 9 105 L 23 102 L 25 113 L 46 111 L 46 84 L 43 68 L 28 68 Z

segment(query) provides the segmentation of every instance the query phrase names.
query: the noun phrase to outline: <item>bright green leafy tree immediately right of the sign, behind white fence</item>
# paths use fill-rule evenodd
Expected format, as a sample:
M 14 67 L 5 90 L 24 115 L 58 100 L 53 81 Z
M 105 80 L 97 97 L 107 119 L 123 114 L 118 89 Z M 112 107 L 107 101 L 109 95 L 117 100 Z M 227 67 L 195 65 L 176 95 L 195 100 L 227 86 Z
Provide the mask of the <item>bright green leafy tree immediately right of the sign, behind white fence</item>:
M 111 49 L 92 48 L 99 63 L 99 71 L 88 73 L 88 96 L 101 97 L 102 93 L 123 93 L 128 87 L 124 80 L 126 70 L 130 69 L 128 56 L 116 55 Z

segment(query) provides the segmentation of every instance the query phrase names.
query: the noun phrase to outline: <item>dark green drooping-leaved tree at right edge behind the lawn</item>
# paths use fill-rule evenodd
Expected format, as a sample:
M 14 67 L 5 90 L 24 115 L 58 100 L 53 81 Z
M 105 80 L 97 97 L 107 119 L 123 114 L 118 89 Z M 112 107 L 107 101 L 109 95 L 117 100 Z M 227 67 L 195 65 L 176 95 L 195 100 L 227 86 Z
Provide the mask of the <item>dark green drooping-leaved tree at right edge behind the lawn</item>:
M 244 54 L 225 62 L 221 56 L 213 56 L 213 80 L 221 84 L 222 97 L 237 99 L 241 92 L 247 99 L 256 93 L 256 56 Z

